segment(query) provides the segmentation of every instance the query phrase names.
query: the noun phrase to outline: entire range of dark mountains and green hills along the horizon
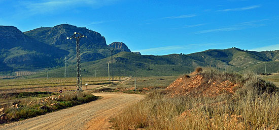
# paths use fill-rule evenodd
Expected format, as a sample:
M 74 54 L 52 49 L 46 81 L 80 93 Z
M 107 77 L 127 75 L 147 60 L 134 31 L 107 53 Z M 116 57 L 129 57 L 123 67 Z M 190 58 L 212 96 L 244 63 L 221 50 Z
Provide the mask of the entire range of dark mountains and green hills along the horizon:
M 76 43 L 66 39 L 74 32 L 87 36 L 81 39 L 83 76 L 107 76 L 108 62 L 111 75 L 169 76 L 192 72 L 196 67 L 214 67 L 230 72 L 279 72 L 279 50 L 248 51 L 239 48 L 210 49 L 191 54 L 162 56 L 141 55 L 122 42 L 107 45 L 98 32 L 73 25 L 61 24 L 41 27 L 22 33 L 13 26 L 0 26 L 0 75 L 15 71 L 47 68 L 50 76 L 64 76 L 64 57 L 67 56 L 68 74 L 76 75 Z M 114 48 L 114 51 L 111 51 Z M 51 75 L 53 74 L 53 75 Z M 45 72 L 33 77 L 44 77 Z

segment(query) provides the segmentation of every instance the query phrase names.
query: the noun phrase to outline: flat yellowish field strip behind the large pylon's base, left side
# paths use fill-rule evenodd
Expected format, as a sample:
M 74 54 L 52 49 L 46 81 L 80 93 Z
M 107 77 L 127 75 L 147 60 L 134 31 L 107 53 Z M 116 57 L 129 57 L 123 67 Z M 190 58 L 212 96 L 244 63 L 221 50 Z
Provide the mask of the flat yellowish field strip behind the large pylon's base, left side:
M 122 81 L 123 77 L 116 77 L 116 82 Z M 13 92 L 43 92 L 59 90 L 75 90 L 76 78 L 36 78 L 36 79 L 0 79 L 0 93 Z M 110 84 L 107 77 L 84 77 L 85 83 L 89 86 Z

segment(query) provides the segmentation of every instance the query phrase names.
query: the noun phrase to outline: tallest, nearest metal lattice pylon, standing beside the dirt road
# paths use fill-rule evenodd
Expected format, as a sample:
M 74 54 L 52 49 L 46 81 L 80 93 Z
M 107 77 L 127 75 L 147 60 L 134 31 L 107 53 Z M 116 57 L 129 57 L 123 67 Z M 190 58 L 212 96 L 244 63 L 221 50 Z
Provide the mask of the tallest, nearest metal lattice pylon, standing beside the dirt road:
M 81 55 L 80 55 L 80 40 L 84 36 L 81 33 L 75 32 L 73 36 L 67 37 L 67 39 L 72 40 L 72 38 L 76 39 L 76 50 L 77 50 L 77 91 L 82 91 L 82 80 L 81 80 Z

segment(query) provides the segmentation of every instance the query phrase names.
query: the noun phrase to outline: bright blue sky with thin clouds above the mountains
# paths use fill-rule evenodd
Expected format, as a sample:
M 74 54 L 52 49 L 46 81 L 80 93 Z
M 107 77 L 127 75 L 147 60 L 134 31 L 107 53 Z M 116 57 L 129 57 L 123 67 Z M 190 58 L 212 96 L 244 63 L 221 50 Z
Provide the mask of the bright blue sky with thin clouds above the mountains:
M 279 49 L 277 0 L 0 0 L 0 25 L 22 32 L 71 24 L 124 42 L 132 51 L 164 55 L 238 47 Z

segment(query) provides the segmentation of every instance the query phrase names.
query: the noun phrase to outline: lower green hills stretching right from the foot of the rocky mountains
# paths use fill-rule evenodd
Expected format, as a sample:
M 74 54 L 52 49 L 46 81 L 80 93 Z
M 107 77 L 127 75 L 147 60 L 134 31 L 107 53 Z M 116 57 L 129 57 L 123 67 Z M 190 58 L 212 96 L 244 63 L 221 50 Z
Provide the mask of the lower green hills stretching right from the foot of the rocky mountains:
M 110 64 L 111 76 L 172 76 L 192 72 L 196 67 L 214 67 L 229 72 L 246 73 L 249 71 L 264 73 L 266 62 L 267 73 L 279 71 L 279 62 L 275 61 L 276 51 L 246 51 L 238 48 L 212 49 L 192 54 L 169 54 L 162 56 L 139 55 L 120 52 L 113 55 Z M 108 62 L 111 58 L 82 63 L 83 76 L 108 76 Z M 75 76 L 75 65 L 68 67 L 68 75 Z M 49 74 L 63 76 L 64 68 L 55 69 Z M 45 73 L 34 77 L 44 77 Z

